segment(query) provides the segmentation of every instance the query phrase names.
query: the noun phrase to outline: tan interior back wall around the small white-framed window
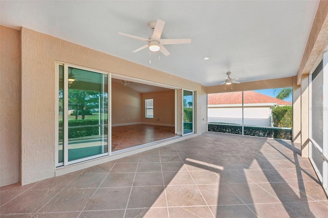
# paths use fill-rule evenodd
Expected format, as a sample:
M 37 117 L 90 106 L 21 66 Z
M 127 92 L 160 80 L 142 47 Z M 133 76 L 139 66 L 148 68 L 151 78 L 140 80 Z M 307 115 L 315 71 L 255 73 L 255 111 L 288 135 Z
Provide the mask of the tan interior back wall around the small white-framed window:
M 141 94 L 141 120 L 145 123 L 174 126 L 175 91 Z M 145 117 L 145 99 L 154 99 L 154 118 Z

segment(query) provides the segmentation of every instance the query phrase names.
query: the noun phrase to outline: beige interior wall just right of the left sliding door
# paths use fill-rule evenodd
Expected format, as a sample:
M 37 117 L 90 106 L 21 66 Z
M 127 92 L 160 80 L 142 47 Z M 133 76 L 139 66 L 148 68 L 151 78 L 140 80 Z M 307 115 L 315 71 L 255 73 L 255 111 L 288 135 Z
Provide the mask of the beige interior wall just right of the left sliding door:
M 112 84 L 112 125 L 141 122 L 141 94 L 123 84 Z

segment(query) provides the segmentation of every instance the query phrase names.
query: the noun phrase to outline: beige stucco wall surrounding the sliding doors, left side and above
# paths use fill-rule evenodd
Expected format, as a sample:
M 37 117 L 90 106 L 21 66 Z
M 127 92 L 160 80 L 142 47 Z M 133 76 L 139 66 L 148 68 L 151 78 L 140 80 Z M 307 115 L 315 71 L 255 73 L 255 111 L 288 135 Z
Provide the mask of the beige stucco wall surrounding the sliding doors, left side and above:
M 200 93 L 201 85 L 22 28 L 22 184 L 55 176 L 55 61 L 169 84 Z M 200 115 L 197 114 L 197 119 Z M 197 129 L 200 129 L 197 125 Z M 199 133 L 199 132 L 198 132 Z

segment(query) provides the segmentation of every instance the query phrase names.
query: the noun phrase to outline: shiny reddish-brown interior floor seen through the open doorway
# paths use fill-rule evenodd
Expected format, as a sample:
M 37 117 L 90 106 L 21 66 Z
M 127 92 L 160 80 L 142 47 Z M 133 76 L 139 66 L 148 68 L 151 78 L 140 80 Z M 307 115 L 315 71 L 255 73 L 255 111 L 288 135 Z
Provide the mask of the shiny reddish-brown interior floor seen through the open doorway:
M 174 126 L 135 124 L 112 126 L 112 151 L 176 137 Z

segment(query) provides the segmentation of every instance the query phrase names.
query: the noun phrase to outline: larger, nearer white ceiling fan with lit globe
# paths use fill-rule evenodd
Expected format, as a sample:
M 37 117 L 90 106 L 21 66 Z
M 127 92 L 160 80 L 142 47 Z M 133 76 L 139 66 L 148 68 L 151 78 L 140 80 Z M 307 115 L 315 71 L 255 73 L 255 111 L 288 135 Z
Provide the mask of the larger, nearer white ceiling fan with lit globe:
M 190 38 L 178 38 L 178 39 L 161 39 L 160 36 L 162 34 L 163 28 L 165 25 L 165 21 L 158 19 L 157 21 L 151 21 L 149 23 L 149 27 L 151 29 L 153 29 L 153 34 L 149 36 L 149 38 L 142 38 L 142 37 L 138 37 L 138 36 L 133 36 L 133 35 L 129 35 L 126 33 L 120 33 L 118 32 L 119 35 L 122 36 L 127 36 L 130 38 L 135 38 L 135 39 L 139 39 L 142 41 L 147 41 L 148 44 L 145 46 L 142 46 L 134 51 L 132 51 L 133 53 L 141 51 L 142 49 L 146 49 L 148 47 L 149 51 L 151 52 L 158 52 L 160 51 L 161 53 L 163 53 L 165 56 L 168 56 L 170 54 L 170 52 L 163 46 L 163 45 L 172 45 L 172 44 L 186 44 L 186 43 L 191 43 L 191 39 Z

